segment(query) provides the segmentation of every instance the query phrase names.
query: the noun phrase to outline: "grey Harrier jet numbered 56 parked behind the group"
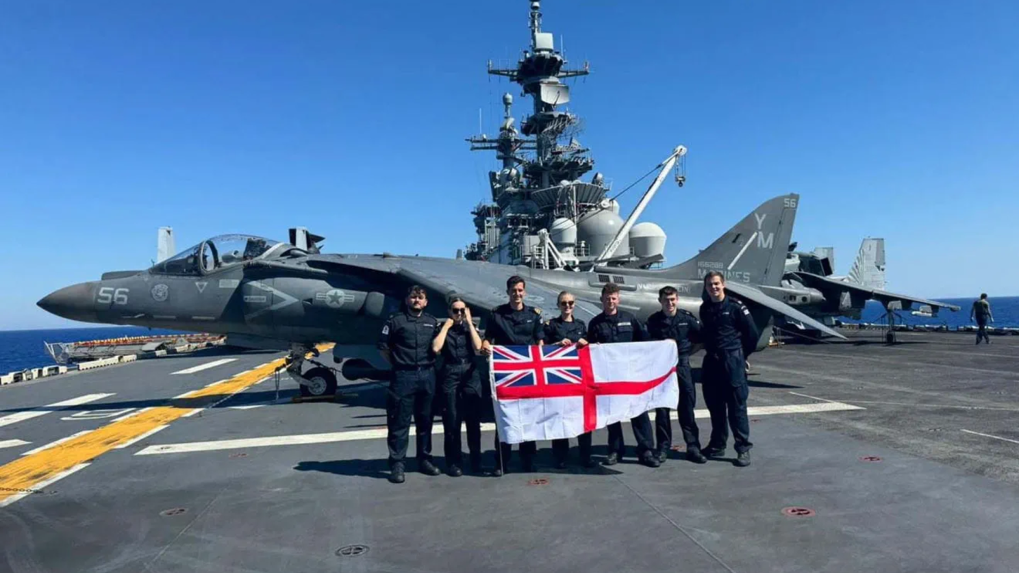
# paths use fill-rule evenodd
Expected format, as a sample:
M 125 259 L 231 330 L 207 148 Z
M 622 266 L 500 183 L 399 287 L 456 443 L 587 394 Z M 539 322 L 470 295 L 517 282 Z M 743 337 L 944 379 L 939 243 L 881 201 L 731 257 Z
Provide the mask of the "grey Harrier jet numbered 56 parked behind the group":
M 438 316 L 445 315 L 448 296 L 462 297 L 483 327 L 489 311 L 505 302 L 512 275 L 527 280 L 526 302 L 538 308 L 552 309 L 560 291 L 573 292 L 577 316 L 585 320 L 600 312 L 601 288 L 614 282 L 623 291 L 621 306 L 645 320 L 659 308 L 657 293 L 666 284 L 679 290 L 683 308 L 698 312 L 702 278 L 718 270 L 728 278 L 729 293 L 746 303 L 765 332 L 759 346 L 767 344 L 765 326 L 775 316 L 840 336 L 761 291 L 781 284 L 798 200 L 786 195 L 764 202 L 692 259 L 660 270 L 547 270 L 388 253 L 321 254 L 316 244 L 321 237 L 312 236 L 302 248 L 294 243 L 304 242 L 292 238 L 280 243 L 229 235 L 147 270 L 107 272 L 100 280 L 61 289 L 38 304 L 72 320 L 217 332 L 226 334 L 228 344 L 289 351 L 287 372 L 313 396 L 336 388 L 331 366 L 306 359 L 319 343 L 335 343 L 333 362 L 342 364 L 347 379 L 385 375 L 380 370 L 388 365 L 375 341 L 411 284 L 429 292 L 428 311 Z

